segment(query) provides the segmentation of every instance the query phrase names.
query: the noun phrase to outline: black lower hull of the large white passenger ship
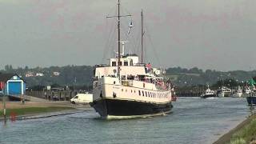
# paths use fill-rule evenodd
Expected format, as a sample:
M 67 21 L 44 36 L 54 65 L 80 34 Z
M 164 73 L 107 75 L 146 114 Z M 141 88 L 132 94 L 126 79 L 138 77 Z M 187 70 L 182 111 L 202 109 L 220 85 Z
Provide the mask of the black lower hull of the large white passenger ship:
M 90 106 L 93 106 L 102 118 L 137 118 L 162 115 L 170 113 L 173 107 L 171 102 L 155 104 L 110 98 L 91 102 Z

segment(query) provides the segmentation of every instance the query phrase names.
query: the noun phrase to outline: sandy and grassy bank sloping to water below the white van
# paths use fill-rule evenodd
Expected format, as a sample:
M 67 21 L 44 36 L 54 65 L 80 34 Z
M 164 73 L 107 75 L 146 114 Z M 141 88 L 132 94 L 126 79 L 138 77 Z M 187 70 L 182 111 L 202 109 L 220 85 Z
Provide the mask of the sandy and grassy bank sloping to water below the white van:
M 22 104 L 21 102 L 7 102 L 6 109 L 9 111 L 9 114 L 6 117 L 6 120 L 1 115 L 0 122 L 36 118 L 49 118 L 59 115 L 75 114 L 83 112 L 85 110 L 90 110 L 90 106 L 88 104 L 74 105 L 70 102 L 26 102 L 25 104 Z M 2 114 L 2 105 L 0 105 L 0 110 Z M 17 113 L 17 115 L 12 117 L 10 113 L 15 110 L 22 111 L 22 113 Z

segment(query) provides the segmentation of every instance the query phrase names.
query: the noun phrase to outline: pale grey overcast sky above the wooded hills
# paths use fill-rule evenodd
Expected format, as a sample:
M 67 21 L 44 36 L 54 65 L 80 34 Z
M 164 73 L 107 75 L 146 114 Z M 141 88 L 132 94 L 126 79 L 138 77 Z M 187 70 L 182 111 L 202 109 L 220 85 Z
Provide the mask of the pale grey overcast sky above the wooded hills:
M 122 40 L 154 66 L 255 70 L 255 0 L 122 0 Z M 95 65 L 117 49 L 116 0 L 0 0 L 0 66 Z M 129 22 L 134 23 L 129 36 Z M 104 55 L 104 56 L 103 56 Z M 103 60 L 102 60 L 103 59 Z

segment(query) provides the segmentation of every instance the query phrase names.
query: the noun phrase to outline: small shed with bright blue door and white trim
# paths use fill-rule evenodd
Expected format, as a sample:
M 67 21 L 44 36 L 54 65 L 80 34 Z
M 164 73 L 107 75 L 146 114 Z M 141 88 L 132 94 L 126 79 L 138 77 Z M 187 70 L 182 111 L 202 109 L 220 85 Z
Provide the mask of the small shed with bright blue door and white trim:
M 0 74 L 0 83 L 4 85 L 2 92 L 6 95 L 20 95 L 26 92 L 26 82 L 18 74 Z

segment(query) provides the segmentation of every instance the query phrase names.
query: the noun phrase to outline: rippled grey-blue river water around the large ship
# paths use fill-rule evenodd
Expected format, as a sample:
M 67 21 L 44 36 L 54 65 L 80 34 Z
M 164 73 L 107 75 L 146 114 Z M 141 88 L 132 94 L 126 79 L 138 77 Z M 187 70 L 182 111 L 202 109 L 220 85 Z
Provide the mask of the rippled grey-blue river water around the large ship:
M 102 120 L 93 109 L 0 122 L 0 143 L 212 143 L 250 114 L 246 98 L 178 98 L 172 114 Z

